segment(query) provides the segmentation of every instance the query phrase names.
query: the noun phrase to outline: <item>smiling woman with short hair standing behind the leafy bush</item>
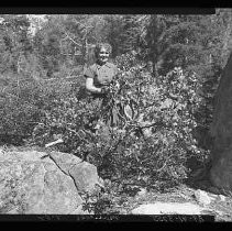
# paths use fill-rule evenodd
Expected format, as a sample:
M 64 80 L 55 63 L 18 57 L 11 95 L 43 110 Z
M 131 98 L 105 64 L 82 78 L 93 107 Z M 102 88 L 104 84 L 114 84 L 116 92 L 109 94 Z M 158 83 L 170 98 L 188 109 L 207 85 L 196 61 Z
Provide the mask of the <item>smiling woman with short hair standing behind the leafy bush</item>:
M 104 122 L 113 127 L 117 124 L 117 113 L 113 109 L 109 111 L 106 108 L 108 102 L 107 89 L 118 73 L 117 66 L 109 62 L 112 47 L 108 43 L 96 45 L 96 62 L 85 70 L 84 76 L 86 77 L 86 89 L 90 92 L 92 100 L 96 100 L 96 103 L 99 105 L 99 111 L 103 114 L 107 114 L 107 112 L 110 114 L 107 118 L 104 117 Z M 99 116 L 92 120 L 98 119 Z

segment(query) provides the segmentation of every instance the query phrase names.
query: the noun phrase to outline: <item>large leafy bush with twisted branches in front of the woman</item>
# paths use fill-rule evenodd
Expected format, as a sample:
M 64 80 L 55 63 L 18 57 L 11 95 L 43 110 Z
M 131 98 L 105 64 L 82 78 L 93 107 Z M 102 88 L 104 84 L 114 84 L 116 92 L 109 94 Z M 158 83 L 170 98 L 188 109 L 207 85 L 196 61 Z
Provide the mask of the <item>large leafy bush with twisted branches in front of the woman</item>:
M 75 90 L 55 98 L 43 109 L 34 141 L 44 145 L 62 136 L 58 148 L 95 164 L 102 178 L 156 188 L 180 183 L 189 170 L 188 158 L 208 157 L 192 136 L 194 114 L 202 101 L 198 76 L 177 67 L 154 79 L 133 55 L 115 62 L 120 72 L 104 109 Z M 110 107 L 119 109 L 115 128 L 103 122 Z

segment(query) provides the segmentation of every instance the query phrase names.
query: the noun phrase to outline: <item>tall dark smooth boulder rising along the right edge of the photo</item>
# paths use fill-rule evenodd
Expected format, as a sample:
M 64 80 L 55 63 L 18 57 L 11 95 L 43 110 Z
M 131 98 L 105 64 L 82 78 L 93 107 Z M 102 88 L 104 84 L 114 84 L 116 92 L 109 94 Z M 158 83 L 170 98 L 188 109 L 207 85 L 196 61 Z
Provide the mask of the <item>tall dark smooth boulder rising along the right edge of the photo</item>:
M 222 73 L 216 95 L 213 122 L 211 183 L 225 190 L 232 189 L 232 55 Z

